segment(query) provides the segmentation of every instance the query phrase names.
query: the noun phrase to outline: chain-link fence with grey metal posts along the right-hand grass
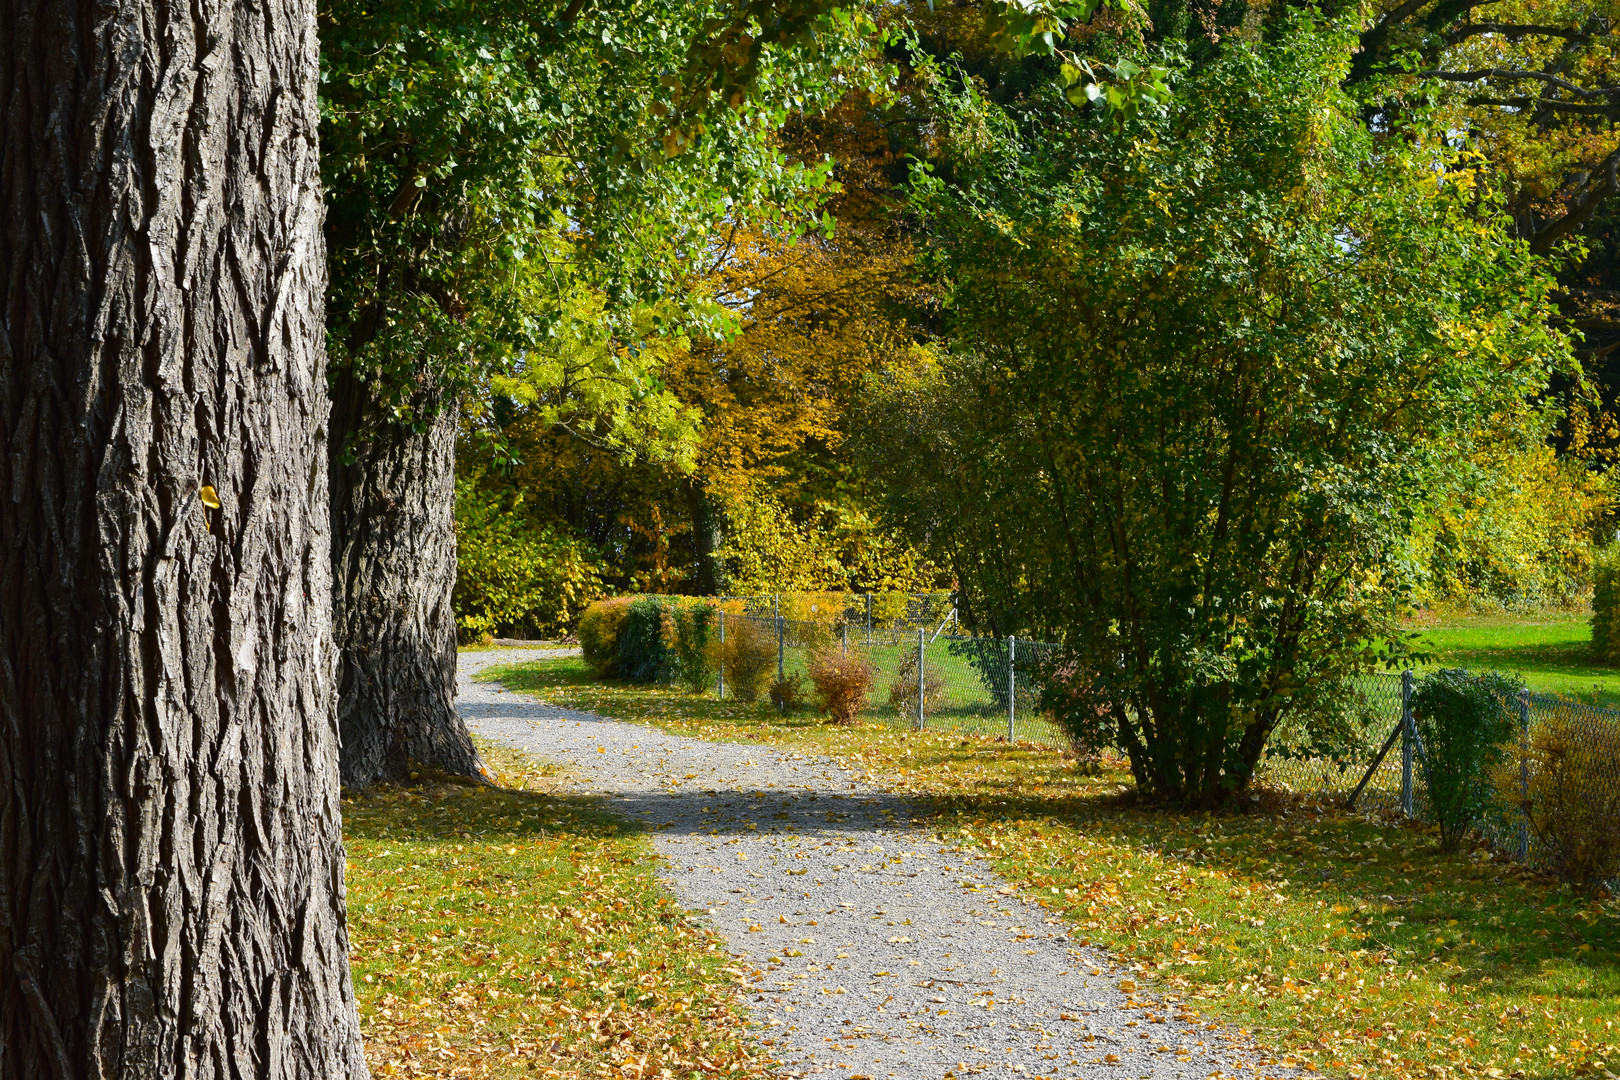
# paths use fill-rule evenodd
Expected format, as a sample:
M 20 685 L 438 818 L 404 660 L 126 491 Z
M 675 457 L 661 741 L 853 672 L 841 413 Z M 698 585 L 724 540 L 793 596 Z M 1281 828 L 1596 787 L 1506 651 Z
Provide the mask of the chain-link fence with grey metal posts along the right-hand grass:
M 723 698 L 770 695 L 789 708 L 842 687 L 850 716 L 1071 746 L 1053 717 L 1076 680 L 1056 644 L 951 633 L 951 609 L 925 601 L 909 609 L 917 619 L 867 620 L 863 602 L 813 620 L 757 610 L 721 617 L 729 657 Z M 834 656 L 865 664 L 829 664 Z M 753 674 L 752 685 L 739 685 L 742 672 Z M 1320 693 L 1275 732 L 1257 784 L 1375 816 L 1426 819 L 1429 763 L 1413 688 L 1413 672 L 1369 674 Z M 1620 712 L 1531 691 L 1507 708 L 1516 712 L 1518 740 L 1500 748 L 1481 832 L 1498 850 L 1567 876 L 1605 858 L 1612 865 L 1620 852 Z

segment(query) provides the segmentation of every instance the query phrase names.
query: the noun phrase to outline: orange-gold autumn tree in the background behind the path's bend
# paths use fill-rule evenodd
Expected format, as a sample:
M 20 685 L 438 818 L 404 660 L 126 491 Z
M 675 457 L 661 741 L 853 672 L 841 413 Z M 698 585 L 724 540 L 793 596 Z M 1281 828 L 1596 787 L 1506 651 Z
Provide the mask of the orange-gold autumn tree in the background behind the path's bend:
M 855 91 L 787 123 L 789 157 L 833 162 L 825 209 L 838 228 L 784 236 L 737 225 L 713 236 L 693 290 L 727 309 L 737 332 L 664 342 L 656 368 L 658 385 L 701 418 L 688 468 L 614 453 L 625 440 L 611 423 L 557 434 L 548 397 L 501 381 L 504 406 L 478 421 L 518 460 L 497 470 L 468 455 L 480 491 L 522 492 L 523 517 L 588 539 L 619 588 L 928 588 L 928 567 L 873 526 L 842 450 L 863 377 L 906 363 L 927 317 L 896 188 L 922 149 L 915 130 L 904 89 L 876 102 Z

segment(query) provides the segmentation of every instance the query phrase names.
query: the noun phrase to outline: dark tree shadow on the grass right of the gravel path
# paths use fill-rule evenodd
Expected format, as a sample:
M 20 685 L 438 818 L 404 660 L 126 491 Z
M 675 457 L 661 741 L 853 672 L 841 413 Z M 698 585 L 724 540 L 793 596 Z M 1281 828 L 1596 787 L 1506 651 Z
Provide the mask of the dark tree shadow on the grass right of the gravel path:
M 983 803 L 964 800 L 957 813 L 985 813 Z M 1315 918 L 1367 934 L 1319 941 L 1328 952 L 1458 965 L 1447 970 L 1447 983 L 1494 993 L 1620 1002 L 1614 912 L 1594 916 L 1589 897 L 1489 858 L 1484 848 L 1442 852 L 1424 829 L 1283 797 L 1247 813 L 1210 814 L 1142 806 L 1118 792 L 1004 795 L 993 813 L 1040 831 L 1102 834 L 1155 861 L 1223 871 L 1225 882 L 1286 881 L 1283 891 L 1301 915 L 1332 913 Z M 1230 892 L 1225 882 L 1220 897 Z M 1173 892 L 1165 895 L 1176 900 Z M 1243 949 L 1264 952 L 1277 933 L 1273 923 L 1233 936 Z

